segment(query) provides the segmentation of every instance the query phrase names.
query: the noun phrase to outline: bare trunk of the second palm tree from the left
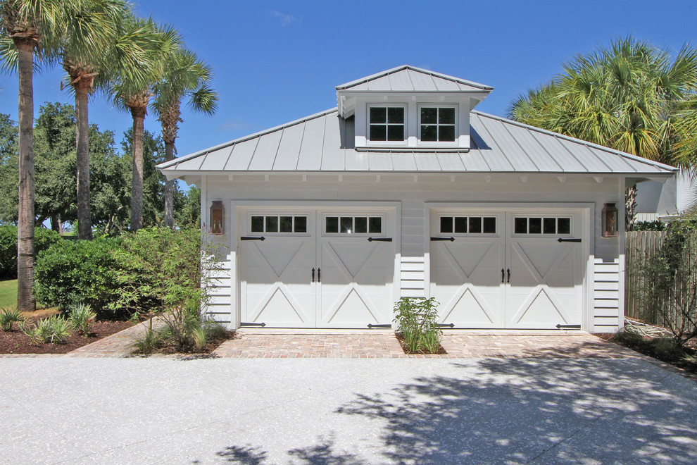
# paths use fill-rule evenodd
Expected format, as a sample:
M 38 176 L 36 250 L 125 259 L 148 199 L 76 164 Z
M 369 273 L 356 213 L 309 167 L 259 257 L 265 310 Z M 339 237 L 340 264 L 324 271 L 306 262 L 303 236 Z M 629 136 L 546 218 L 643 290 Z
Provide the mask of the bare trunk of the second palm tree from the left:
M 77 123 L 77 238 L 92 239 L 92 214 L 89 211 L 89 88 L 75 86 L 75 120 Z

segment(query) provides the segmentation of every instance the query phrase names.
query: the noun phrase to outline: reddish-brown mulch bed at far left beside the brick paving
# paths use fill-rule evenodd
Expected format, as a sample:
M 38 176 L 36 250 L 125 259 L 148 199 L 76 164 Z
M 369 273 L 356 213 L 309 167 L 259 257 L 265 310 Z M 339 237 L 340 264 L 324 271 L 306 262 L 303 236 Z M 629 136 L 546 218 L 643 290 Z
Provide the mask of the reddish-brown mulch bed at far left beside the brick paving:
M 37 319 L 29 318 L 27 323 L 33 323 Z M 29 336 L 18 329 L 17 323 L 13 323 L 12 331 L 0 331 L 0 354 L 67 354 L 77 347 L 88 345 L 132 325 L 129 321 L 95 321 L 89 335 L 73 334 L 66 337 L 65 342 L 61 344 L 34 345 Z

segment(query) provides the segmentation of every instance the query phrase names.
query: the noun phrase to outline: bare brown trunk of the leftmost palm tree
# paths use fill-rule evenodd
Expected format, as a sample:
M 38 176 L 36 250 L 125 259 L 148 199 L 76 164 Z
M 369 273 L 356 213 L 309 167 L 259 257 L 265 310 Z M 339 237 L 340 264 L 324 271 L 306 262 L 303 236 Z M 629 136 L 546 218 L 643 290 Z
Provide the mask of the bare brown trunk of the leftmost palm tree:
M 19 205 L 17 221 L 17 309 L 32 311 L 34 286 L 34 42 L 15 39 L 19 74 Z

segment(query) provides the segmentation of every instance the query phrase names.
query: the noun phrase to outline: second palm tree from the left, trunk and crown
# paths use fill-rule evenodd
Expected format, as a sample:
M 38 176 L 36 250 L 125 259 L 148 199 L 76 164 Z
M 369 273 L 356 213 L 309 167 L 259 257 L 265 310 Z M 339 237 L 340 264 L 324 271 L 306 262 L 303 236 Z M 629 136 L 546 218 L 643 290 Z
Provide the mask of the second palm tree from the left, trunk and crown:
M 125 59 L 136 67 L 142 57 L 138 44 L 123 39 L 125 18 L 130 14 L 123 0 L 92 0 L 80 16 L 70 18 L 61 42 L 63 69 L 68 87 L 75 94 L 77 122 L 77 237 L 92 238 L 89 202 L 89 116 L 90 94 L 111 75 L 113 63 Z M 127 58 L 124 58 L 127 57 Z

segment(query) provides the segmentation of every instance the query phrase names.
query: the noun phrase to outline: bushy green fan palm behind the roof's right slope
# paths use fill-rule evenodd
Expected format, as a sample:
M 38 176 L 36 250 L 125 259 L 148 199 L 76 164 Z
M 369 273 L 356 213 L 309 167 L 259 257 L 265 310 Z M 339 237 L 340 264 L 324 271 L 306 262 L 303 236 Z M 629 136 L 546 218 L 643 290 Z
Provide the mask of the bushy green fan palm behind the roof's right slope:
M 563 73 L 518 97 L 509 116 L 522 123 L 643 156 L 687 166 L 678 156 L 689 134 L 679 109 L 697 90 L 697 50 L 670 54 L 632 37 L 579 55 Z M 632 226 L 636 185 L 627 190 L 627 225 Z

